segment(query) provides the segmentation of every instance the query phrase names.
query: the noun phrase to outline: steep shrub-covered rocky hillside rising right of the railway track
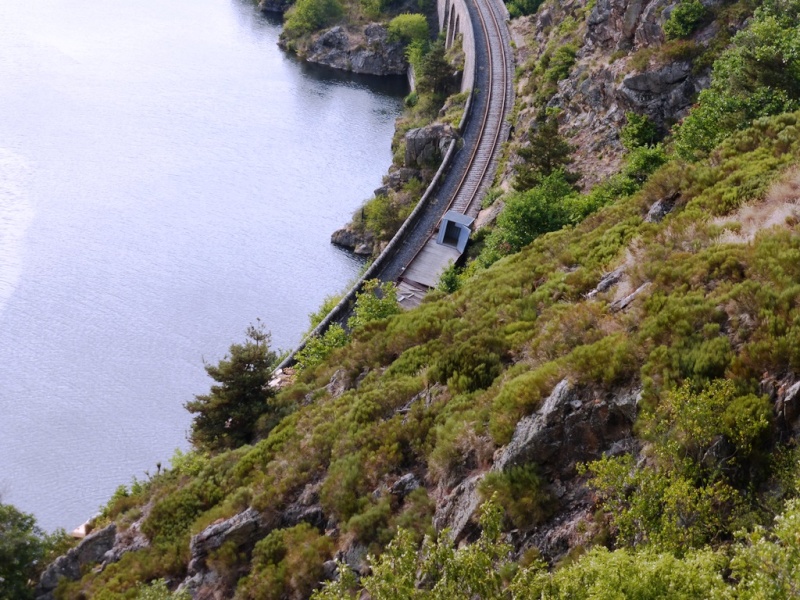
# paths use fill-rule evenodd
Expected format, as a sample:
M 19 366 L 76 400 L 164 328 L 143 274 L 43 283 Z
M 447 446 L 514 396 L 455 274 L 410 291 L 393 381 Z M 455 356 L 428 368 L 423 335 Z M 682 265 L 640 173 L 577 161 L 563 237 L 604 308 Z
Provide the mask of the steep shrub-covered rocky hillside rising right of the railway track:
M 399 530 L 412 554 L 424 535 L 445 529 L 485 549 L 469 544 L 484 540 L 478 507 L 491 497 L 510 547 L 485 572 L 509 553 L 523 566 L 577 559 L 556 570 L 558 581 L 586 564 L 578 557 L 587 549 L 610 547 L 620 554 L 606 554 L 633 561 L 634 571 L 660 557 L 671 577 L 684 557 L 705 561 L 714 585 L 732 588 L 723 575 L 736 568 L 725 562 L 741 548 L 734 533 L 769 525 L 798 493 L 800 113 L 791 111 L 800 108 L 800 5 L 764 3 L 741 35 L 719 38 L 730 41 L 724 50 L 709 43 L 713 77 L 687 74 L 654 92 L 647 106 L 657 109 L 643 109 L 663 135 L 708 86 L 674 130 L 675 151 L 649 139 L 623 156 L 614 140 L 625 130 L 613 115 L 631 106 L 620 86 L 637 75 L 617 82 L 609 74 L 616 87 L 594 116 L 570 90 L 581 65 L 594 64 L 593 73 L 630 65 L 656 26 L 684 25 L 678 39 L 702 46 L 703 32 L 728 23 L 720 15 L 738 15 L 738 27 L 748 12 L 712 6 L 695 17 L 680 6 L 544 5 L 518 21 L 518 32 L 545 32 L 548 11 L 572 11 L 551 12 L 558 25 L 537 42 L 550 45 L 550 58 L 542 62 L 546 48 L 532 54 L 535 64 L 520 72 L 520 85 L 536 87 L 520 107 L 518 135 L 530 135 L 526 118 L 546 122 L 546 110 L 534 113 L 561 103 L 562 133 L 583 123 L 589 136 L 575 162 L 601 172 L 622 165 L 621 175 L 581 195 L 555 169 L 510 194 L 509 207 L 546 199 L 533 211 L 536 225 L 548 211 L 571 212 L 522 231 L 532 243 L 516 253 L 492 246 L 488 234 L 491 260 L 479 257 L 458 276 L 452 288 L 460 289 L 356 327 L 347 346 L 265 399 L 252 445 L 178 455 L 170 469 L 120 490 L 96 524 L 101 532 L 81 546 L 100 557 L 98 567 L 87 563 L 80 579 L 60 583 L 51 571 L 55 595 L 135 598 L 138 582 L 166 578 L 195 598 L 308 597 L 334 577 L 334 561 L 345 575 L 367 575 L 367 555 Z M 583 54 L 559 53 L 581 32 L 596 38 Z M 609 66 L 592 54 L 599 47 L 634 54 Z M 658 56 L 647 65 L 668 55 Z M 776 83 L 771 72 L 789 75 Z M 555 87 L 540 94 L 548 83 Z M 593 154 L 590 138 L 605 139 L 607 153 L 595 157 L 600 146 Z M 643 167 L 643 157 L 657 160 Z M 515 177 L 509 166 L 506 185 Z M 592 177 L 584 170 L 585 186 Z M 555 201 L 552 190 L 561 194 Z M 501 219 L 496 231 L 513 226 Z M 275 415 L 286 416 L 276 423 Z M 758 532 L 753 539 L 766 539 Z M 94 545 L 112 537 L 103 552 Z M 696 554 L 705 546 L 717 553 Z M 411 586 L 431 587 L 436 577 L 417 581 L 412 569 Z M 525 589 L 539 589 L 535 577 Z M 42 597 L 52 589 L 43 586 Z M 465 592 L 448 593 L 435 597 Z

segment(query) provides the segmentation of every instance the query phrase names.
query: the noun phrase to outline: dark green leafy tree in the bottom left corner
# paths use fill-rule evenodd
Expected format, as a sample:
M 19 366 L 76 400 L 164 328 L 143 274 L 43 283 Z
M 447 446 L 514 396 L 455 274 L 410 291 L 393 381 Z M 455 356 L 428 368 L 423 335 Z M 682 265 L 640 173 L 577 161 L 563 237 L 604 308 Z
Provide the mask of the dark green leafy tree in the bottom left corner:
M 33 515 L 0 504 L 0 600 L 33 598 L 47 538 Z

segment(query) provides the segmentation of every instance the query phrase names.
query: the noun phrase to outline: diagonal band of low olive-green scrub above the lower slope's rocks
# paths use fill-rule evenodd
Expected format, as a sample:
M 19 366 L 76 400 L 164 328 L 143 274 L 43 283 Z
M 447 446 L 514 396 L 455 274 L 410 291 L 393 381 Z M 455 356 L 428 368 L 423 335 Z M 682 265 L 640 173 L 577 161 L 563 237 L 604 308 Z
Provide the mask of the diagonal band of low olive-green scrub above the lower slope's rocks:
M 309 483 L 319 484 L 320 503 L 338 524 L 337 544 L 355 538 L 377 550 L 397 526 L 425 532 L 432 514 L 425 493 L 393 506 L 372 491 L 409 470 L 431 489 L 452 484 L 469 453 L 477 454 L 473 467 L 485 468 L 516 421 L 563 377 L 608 389 L 641 382 L 645 401 L 656 405 L 687 380 L 731 377 L 757 391 L 765 373 L 796 372 L 800 236 L 790 221 L 748 243 L 725 243 L 724 231 L 740 225 L 719 218 L 763 201 L 770 183 L 796 162 L 798 118 L 759 122 L 705 163 L 671 163 L 639 194 L 538 239 L 461 291 L 434 295 L 360 332 L 282 392 L 281 401 L 297 410 L 265 440 L 211 459 L 183 457 L 113 501 L 108 516 L 121 523 L 153 502 L 142 529 L 154 548 L 126 555 L 74 589 L 123 590 L 136 579 L 182 575 L 191 533 L 248 504 L 279 511 Z M 672 215 L 661 224 L 643 221 L 654 201 L 676 191 Z M 651 283 L 629 310 L 612 313 L 610 296 L 585 299 L 622 263 L 632 288 Z M 462 360 L 460 348 L 501 371 L 487 389 L 470 390 L 469 378 L 434 385 L 432 375 Z M 337 370 L 349 381 L 366 376 L 333 398 L 324 386 Z M 774 442 L 770 437 L 764 448 Z M 762 475 L 766 481 L 769 474 Z M 241 559 L 220 560 L 236 573 Z

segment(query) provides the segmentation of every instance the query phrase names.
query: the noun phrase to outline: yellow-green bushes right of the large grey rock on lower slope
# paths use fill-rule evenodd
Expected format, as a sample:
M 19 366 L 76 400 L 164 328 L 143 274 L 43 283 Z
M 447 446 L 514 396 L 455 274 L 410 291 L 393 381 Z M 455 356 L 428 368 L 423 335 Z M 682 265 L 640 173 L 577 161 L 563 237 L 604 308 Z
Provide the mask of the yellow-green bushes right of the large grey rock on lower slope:
M 603 458 L 585 467 L 619 542 L 683 553 L 729 535 L 747 510 L 736 487 L 769 428 L 765 398 L 730 380 L 665 394 L 643 419 L 654 460 Z

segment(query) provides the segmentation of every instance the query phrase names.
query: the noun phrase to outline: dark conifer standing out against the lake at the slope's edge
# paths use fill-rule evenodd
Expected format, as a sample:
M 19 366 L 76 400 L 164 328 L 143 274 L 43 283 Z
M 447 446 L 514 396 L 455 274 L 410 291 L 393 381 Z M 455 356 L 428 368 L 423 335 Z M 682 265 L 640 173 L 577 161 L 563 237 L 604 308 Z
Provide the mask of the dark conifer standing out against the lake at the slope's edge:
M 277 356 L 269 343 L 270 334 L 258 322 L 247 328 L 247 340 L 233 344 L 219 364 L 205 366 L 218 385 L 185 405 L 196 415 L 190 440 L 197 448 L 219 451 L 253 441 L 258 417 L 274 410 L 268 384 Z

